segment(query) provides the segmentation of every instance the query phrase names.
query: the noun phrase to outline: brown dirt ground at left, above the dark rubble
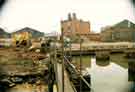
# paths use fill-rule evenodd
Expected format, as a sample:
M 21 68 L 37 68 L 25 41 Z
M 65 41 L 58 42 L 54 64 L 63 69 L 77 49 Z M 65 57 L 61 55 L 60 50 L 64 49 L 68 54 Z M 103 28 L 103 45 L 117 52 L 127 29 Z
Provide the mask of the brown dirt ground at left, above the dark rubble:
M 27 51 L 24 48 L 0 48 L 0 73 L 8 75 L 39 73 L 46 69 L 44 59 L 45 54 Z

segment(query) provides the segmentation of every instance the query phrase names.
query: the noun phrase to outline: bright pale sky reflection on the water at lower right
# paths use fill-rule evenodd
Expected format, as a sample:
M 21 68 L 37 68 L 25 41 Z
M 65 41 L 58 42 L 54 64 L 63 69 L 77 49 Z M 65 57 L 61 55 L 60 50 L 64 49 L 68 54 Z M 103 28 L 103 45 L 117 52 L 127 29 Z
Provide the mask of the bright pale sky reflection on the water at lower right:
M 91 67 L 92 87 L 94 92 L 128 92 L 127 69 L 111 62 L 106 67 L 97 66 L 92 62 Z

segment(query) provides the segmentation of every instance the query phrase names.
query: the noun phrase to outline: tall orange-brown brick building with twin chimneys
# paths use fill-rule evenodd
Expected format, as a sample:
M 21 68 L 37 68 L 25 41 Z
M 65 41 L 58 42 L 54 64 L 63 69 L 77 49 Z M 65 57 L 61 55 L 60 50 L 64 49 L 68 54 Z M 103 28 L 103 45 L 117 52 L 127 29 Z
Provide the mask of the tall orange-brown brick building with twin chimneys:
M 65 36 L 87 35 L 90 33 L 90 23 L 77 19 L 75 13 L 72 16 L 69 13 L 68 19 L 61 21 L 61 27 Z

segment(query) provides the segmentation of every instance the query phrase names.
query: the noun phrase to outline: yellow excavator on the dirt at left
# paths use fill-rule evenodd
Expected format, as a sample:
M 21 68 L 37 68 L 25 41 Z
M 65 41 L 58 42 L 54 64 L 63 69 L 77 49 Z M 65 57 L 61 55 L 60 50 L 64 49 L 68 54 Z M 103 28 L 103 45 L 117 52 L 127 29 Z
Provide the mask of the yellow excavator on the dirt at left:
M 12 35 L 12 45 L 14 47 L 30 46 L 32 35 L 29 32 L 14 33 Z

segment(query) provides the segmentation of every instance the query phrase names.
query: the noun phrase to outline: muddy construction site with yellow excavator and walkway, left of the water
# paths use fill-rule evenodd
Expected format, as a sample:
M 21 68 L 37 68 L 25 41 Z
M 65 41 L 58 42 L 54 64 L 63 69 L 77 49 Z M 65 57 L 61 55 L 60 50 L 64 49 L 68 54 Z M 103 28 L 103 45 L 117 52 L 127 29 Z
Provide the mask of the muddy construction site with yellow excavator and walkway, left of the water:
M 64 50 L 58 37 L 20 32 L 1 38 L 0 92 L 89 92 L 90 75 L 83 76 L 81 66 L 75 69 Z

